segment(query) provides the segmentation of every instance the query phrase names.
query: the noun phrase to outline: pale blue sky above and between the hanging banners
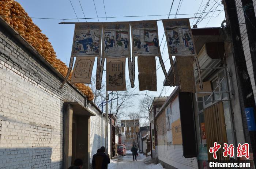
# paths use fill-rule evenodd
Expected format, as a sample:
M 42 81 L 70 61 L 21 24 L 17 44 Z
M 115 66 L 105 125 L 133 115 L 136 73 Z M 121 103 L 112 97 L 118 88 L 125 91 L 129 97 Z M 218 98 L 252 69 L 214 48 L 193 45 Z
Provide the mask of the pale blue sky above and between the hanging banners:
M 61 59 L 66 65 L 69 63 L 72 41 L 74 35 L 75 24 L 59 24 L 59 22 L 117 22 L 117 21 L 137 21 L 137 20 L 158 20 L 167 19 L 173 0 L 16 0 L 18 1 L 25 11 L 33 18 L 33 22 L 42 30 L 52 43 L 57 57 Z M 206 8 L 207 11 L 213 11 L 206 15 L 202 15 L 202 21 L 197 24 L 197 27 L 220 27 L 222 21 L 225 19 L 223 5 L 221 0 L 174 0 L 172 10 L 169 18 L 193 18 L 199 17 Z M 72 3 L 72 5 L 71 5 Z M 94 6 L 95 3 L 95 6 Z M 105 10 L 104 10 L 104 4 Z M 81 4 L 81 5 L 80 5 Z M 74 9 L 73 9 L 73 7 Z M 81 8 L 82 6 L 82 8 Z M 178 8 L 179 6 L 179 8 Z M 199 8 L 200 7 L 200 8 Z M 96 10 L 97 12 L 96 12 Z M 178 10 L 177 10 L 178 8 Z M 216 9 L 216 11 L 215 11 Z M 75 12 L 74 12 L 75 10 Z M 83 11 L 82 11 L 83 10 Z M 219 11 L 221 10 L 221 11 Z M 75 14 L 76 13 L 76 14 Z M 189 15 L 184 15 L 189 14 Z M 97 18 L 97 15 L 99 19 Z M 142 15 L 165 15 L 165 16 L 142 16 Z M 206 16 L 205 16 L 206 15 Z M 78 18 L 95 18 L 95 19 L 76 19 Z M 85 16 L 85 17 L 84 17 Z M 140 17 L 121 17 L 121 18 L 107 18 L 113 16 L 140 16 Z M 35 18 L 52 18 L 52 19 L 35 19 Z M 72 20 L 64 20 L 72 19 Z M 190 24 L 195 23 L 197 19 L 189 19 Z M 163 37 L 164 31 L 161 21 L 158 21 L 158 34 L 159 41 Z M 165 62 L 165 68 L 168 72 L 170 62 L 168 59 L 168 51 L 165 46 L 166 39 L 163 38 L 161 48 L 162 58 Z M 97 60 L 97 59 L 95 59 Z M 157 59 L 157 65 L 158 65 Z M 135 91 L 134 93 L 147 93 L 147 95 L 159 96 L 165 79 L 161 66 L 157 68 L 157 92 L 139 91 L 138 83 L 138 67 L 136 61 L 135 73 Z M 94 64 L 93 74 L 96 72 L 96 62 Z M 128 64 L 126 64 L 126 79 L 129 81 Z M 102 81 L 105 81 L 105 74 Z M 130 85 L 130 83 L 126 84 Z M 161 96 L 169 96 L 174 88 L 165 87 Z M 136 96 L 133 99 L 134 111 L 140 109 L 138 100 L 143 99 L 144 95 Z M 129 110 L 129 111 L 133 111 Z

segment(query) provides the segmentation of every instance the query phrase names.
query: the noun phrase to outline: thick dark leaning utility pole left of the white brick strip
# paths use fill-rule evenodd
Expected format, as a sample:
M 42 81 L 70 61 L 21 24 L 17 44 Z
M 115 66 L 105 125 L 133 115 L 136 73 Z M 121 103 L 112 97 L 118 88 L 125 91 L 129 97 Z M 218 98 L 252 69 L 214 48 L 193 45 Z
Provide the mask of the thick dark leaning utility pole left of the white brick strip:
M 232 39 L 232 48 L 233 48 L 233 57 L 234 64 L 236 67 L 236 77 L 237 77 L 237 86 L 238 86 L 238 94 L 240 97 L 240 107 L 241 114 L 243 119 L 245 116 L 245 108 L 253 107 L 255 110 L 255 99 L 252 90 L 251 80 L 248 74 L 244 49 L 242 46 L 240 27 L 238 22 L 238 16 L 236 11 L 236 1 L 235 0 L 225 0 L 224 1 L 225 12 L 227 14 L 227 19 L 229 26 L 227 27 L 231 33 Z M 243 120 L 244 132 L 248 133 L 247 123 Z M 246 134 L 245 134 L 246 135 Z M 249 137 L 245 137 L 245 141 L 247 143 L 250 142 L 250 150 L 252 153 L 256 152 L 255 145 L 255 132 L 249 132 Z M 253 153 L 253 161 L 256 165 L 256 153 Z

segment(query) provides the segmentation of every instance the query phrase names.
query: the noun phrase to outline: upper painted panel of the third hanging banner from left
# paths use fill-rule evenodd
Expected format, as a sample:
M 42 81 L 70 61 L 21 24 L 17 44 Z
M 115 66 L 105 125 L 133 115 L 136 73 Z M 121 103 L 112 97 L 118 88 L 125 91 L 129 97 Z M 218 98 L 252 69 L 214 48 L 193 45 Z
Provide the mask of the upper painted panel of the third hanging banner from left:
M 160 56 L 157 21 L 131 22 L 132 56 Z

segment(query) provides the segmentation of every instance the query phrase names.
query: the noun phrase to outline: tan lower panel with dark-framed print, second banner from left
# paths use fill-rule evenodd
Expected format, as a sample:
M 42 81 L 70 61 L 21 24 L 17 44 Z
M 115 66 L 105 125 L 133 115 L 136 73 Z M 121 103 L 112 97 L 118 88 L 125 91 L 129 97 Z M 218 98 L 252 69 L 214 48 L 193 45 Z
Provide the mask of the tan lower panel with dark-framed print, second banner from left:
M 125 58 L 107 59 L 106 70 L 107 91 L 125 91 Z

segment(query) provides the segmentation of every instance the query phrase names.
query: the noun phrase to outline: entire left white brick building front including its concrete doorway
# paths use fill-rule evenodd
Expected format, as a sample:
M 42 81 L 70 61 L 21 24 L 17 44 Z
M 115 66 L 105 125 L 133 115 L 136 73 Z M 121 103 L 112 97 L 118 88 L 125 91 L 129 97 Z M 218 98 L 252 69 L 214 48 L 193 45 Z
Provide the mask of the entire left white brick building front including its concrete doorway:
M 102 112 L 0 22 L 0 168 L 68 168 L 105 145 Z M 95 126 L 102 124 L 103 127 Z

